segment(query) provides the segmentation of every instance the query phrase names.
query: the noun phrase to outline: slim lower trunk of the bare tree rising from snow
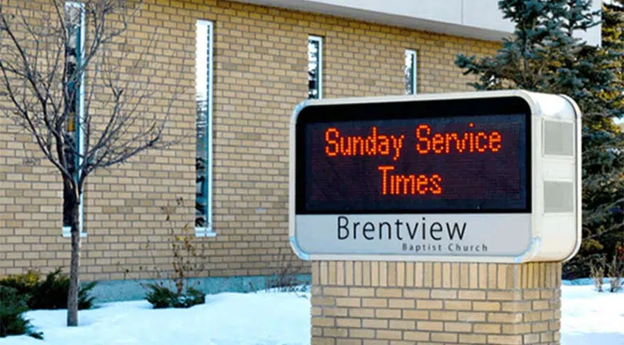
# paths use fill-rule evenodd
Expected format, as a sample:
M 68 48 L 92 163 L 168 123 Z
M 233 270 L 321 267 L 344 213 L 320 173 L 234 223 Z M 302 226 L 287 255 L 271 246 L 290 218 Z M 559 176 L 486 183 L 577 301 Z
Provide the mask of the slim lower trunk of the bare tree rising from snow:
M 78 326 L 78 270 L 80 266 L 80 198 L 71 182 L 63 182 L 63 207 L 72 223 L 72 255 L 70 257 L 70 289 L 67 296 L 67 326 Z

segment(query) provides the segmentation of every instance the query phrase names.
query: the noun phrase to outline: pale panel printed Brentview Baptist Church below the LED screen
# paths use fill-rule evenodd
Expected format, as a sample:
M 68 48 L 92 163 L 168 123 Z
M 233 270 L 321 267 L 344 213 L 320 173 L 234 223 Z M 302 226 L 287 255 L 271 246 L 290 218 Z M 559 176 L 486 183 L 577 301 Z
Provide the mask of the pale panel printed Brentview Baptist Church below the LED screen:
M 297 223 L 300 249 L 325 255 L 521 255 L 531 241 L 529 214 L 304 215 Z

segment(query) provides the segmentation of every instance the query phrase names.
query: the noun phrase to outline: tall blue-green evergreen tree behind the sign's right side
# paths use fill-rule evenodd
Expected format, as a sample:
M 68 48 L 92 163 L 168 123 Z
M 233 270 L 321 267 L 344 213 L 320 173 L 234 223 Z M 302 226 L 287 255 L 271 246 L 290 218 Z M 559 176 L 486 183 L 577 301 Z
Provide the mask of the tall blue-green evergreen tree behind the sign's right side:
M 579 255 L 566 264 L 568 278 L 588 275 L 587 257 L 612 255 L 624 241 L 624 134 L 614 118 L 624 115 L 624 10 L 591 10 L 591 0 L 501 0 L 515 23 L 492 57 L 458 55 L 455 64 L 474 74 L 477 90 L 519 88 L 564 94 L 583 112 L 583 237 Z M 617 2 L 624 2 L 620 0 Z M 602 22 L 602 45 L 573 33 Z

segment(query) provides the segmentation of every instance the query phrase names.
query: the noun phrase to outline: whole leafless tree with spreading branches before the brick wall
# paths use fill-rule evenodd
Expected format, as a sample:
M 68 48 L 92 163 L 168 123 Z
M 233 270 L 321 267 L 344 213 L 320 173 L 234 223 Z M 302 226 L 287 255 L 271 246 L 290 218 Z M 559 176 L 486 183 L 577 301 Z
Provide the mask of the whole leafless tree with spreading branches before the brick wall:
M 180 71 L 166 62 L 147 68 L 158 63 L 150 54 L 156 35 L 137 45 L 128 31 L 140 1 L 44 1 L 47 11 L 10 8 L 0 0 L 0 109 L 33 136 L 61 175 L 63 225 L 71 228 L 67 323 L 77 326 L 86 178 L 171 144 L 163 136 L 177 85 L 157 93 L 152 81 Z

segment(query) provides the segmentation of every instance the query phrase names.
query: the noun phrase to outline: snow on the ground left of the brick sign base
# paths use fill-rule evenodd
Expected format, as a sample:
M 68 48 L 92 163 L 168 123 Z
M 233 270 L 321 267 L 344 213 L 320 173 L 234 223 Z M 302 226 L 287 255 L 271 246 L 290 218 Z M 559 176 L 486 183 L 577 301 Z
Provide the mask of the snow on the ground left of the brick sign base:
M 43 331 L 0 338 L 1 345 L 310 343 L 310 300 L 305 294 L 217 294 L 189 309 L 153 310 L 146 300 L 105 303 L 79 312 L 79 326 L 65 326 L 66 310 L 36 310 L 27 317 Z

